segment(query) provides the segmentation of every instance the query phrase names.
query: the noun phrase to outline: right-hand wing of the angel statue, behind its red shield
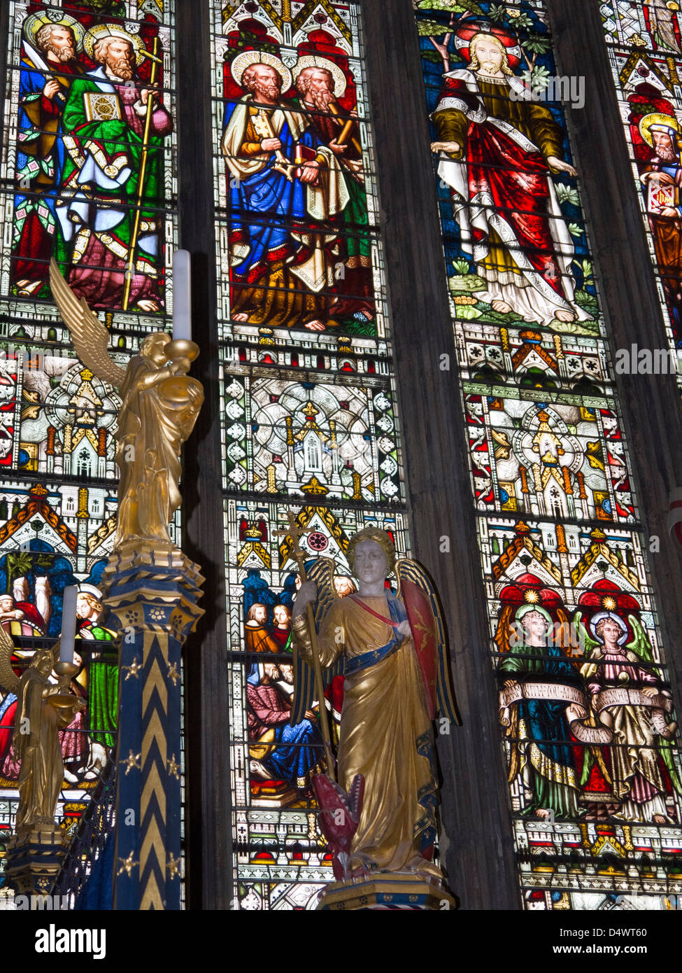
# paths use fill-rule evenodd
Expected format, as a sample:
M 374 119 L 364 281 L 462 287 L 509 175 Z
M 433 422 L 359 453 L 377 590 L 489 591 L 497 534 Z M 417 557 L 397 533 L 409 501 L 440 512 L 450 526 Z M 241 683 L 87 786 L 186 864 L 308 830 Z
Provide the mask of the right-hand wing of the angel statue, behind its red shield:
M 427 678 L 426 673 L 429 669 L 432 672 L 435 671 L 436 709 L 440 712 L 441 716 L 445 716 L 453 723 L 456 723 L 457 726 L 461 726 L 461 720 L 457 714 L 457 707 L 454 703 L 454 694 L 452 692 L 448 658 L 448 639 L 438 593 L 424 568 L 415 560 L 404 558 L 397 561 L 395 574 L 398 579 L 398 597 L 402 597 L 405 600 L 406 591 L 409 585 L 413 584 L 424 595 L 430 605 L 431 615 L 433 616 L 432 624 L 435 630 L 433 631 L 434 637 L 433 640 L 428 638 L 424 639 L 423 647 L 419 646 L 417 648 L 419 666 L 425 680 Z M 406 603 L 406 608 L 408 609 L 408 617 L 410 617 L 410 605 L 408 603 Z M 414 631 L 415 626 L 412 619 L 410 625 L 416 640 L 419 638 L 418 626 L 416 627 L 417 631 Z M 429 658 L 431 654 L 435 654 L 435 658 Z

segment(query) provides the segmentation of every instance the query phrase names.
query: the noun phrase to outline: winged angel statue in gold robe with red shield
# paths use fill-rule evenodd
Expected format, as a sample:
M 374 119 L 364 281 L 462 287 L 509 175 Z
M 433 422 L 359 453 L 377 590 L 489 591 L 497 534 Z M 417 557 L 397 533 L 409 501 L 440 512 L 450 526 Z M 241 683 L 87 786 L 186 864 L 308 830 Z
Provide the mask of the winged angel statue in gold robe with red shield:
M 412 871 L 441 878 L 434 863 L 436 778 L 432 720 L 437 703 L 456 720 L 438 600 L 423 568 L 396 563 L 391 538 L 366 527 L 346 552 L 358 591 L 339 597 L 334 562 L 318 559 L 299 590 L 292 618 L 297 650 L 292 720 L 312 703 L 313 644 L 305 618 L 315 603 L 317 651 L 328 678 L 345 677 L 339 784 L 350 795 L 364 777 L 347 876 Z M 399 594 L 385 586 L 391 571 Z M 303 663 L 303 665 L 302 665 Z

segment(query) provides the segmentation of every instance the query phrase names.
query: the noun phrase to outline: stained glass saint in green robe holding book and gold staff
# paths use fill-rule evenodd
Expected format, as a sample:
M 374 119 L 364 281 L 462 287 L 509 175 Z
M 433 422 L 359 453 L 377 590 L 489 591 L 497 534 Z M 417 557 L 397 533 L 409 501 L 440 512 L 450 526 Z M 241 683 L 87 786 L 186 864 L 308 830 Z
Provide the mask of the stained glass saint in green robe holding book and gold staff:
M 55 258 L 62 267 L 70 266 L 67 279 L 90 307 L 123 307 L 129 271 L 129 306 L 155 311 L 161 300 L 159 150 L 173 124 L 160 92 L 137 80 L 135 60 L 142 57 L 142 42 L 122 28 L 105 30 L 92 28 L 86 35 L 86 50 L 90 48 L 100 66 L 72 84 L 64 108 L 64 126 L 70 133 L 64 137 L 63 199 L 57 206 L 63 245 Z M 138 196 L 141 209 L 135 229 Z

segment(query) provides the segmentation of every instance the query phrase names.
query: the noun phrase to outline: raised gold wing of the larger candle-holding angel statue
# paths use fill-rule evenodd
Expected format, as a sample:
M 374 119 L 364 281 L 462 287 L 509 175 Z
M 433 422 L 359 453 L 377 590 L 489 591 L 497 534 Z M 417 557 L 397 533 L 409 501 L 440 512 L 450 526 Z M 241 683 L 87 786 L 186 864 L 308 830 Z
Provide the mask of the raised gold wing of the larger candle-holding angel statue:
M 69 329 L 76 354 L 97 378 L 119 388 L 126 378 L 126 369 L 121 368 L 109 357 L 109 334 L 88 302 L 78 300 L 61 275 L 53 259 L 50 262 L 50 286 L 54 304 Z

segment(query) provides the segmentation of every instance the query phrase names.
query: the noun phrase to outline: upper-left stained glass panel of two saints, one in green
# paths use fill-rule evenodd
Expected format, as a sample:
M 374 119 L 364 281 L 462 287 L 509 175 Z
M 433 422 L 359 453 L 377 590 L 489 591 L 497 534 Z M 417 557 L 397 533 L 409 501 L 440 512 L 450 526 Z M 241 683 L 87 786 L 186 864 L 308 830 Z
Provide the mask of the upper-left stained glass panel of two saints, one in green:
M 3 163 L 17 192 L 2 206 L 11 246 L 0 294 L 49 298 L 54 256 L 90 306 L 162 311 L 175 181 L 162 12 L 11 7 L 10 36 L 21 41 L 8 61 Z

